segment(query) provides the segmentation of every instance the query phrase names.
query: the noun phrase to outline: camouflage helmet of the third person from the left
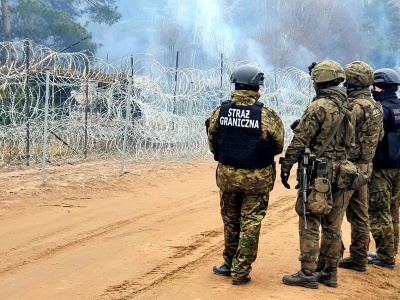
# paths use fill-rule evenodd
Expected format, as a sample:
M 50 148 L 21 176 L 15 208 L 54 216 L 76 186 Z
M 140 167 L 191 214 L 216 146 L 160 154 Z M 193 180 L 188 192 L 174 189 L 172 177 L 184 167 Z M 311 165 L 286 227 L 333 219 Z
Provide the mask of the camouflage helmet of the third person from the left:
M 346 65 L 346 82 L 355 86 L 369 86 L 374 83 L 374 70 L 363 61 L 353 61 Z

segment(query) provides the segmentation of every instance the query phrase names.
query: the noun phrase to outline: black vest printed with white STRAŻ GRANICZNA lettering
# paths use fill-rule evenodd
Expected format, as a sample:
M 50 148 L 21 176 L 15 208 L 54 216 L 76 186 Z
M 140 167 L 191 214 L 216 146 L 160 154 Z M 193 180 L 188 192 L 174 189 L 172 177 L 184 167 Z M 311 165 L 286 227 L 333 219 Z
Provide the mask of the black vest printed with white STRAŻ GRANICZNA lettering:
M 221 104 L 215 160 L 243 169 L 264 168 L 272 164 L 271 141 L 261 135 L 262 107 L 258 101 L 251 106 L 237 106 L 230 100 Z

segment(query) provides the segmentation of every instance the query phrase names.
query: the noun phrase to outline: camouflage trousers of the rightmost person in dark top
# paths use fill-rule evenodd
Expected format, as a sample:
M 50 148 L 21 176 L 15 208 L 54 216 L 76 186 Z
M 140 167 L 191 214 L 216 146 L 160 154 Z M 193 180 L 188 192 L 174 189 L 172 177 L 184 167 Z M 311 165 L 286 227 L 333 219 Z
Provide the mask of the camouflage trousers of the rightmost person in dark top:
M 399 247 L 400 170 L 373 170 L 369 188 L 369 219 L 379 257 L 394 262 Z

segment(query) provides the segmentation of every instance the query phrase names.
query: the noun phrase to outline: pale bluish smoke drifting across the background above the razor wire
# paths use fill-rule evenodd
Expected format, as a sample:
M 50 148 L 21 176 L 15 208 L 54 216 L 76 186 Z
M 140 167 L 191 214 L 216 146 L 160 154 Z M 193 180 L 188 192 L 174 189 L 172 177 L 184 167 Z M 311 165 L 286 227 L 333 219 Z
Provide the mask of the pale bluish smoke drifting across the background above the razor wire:
M 310 61 L 322 59 L 342 64 L 362 59 L 375 68 L 390 67 L 387 64 L 391 62 L 398 65 L 400 53 L 388 47 L 388 40 L 397 39 L 400 32 L 388 26 L 380 7 L 370 12 L 375 20 L 370 24 L 376 27 L 364 25 L 372 22 L 363 18 L 365 3 L 368 1 L 120 0 L 117 5 L 122 18 L 118 23 L 89 24 L 88 30 L 93 41 L 102 44 L 97 55 L 110 62 L 149 53 L 171 66 L 176 56 L 173 52 L 179 51 L 180 67 L 200 69 L 217 65 L 221 54 L 230 61 L 254 61 L 265 71 L 285 66 L 303 69 Z M 160 21 L 183 29 L 175 48 L 160 43 Z M 282 40 L 288 46 L 282 48 Z M 168 63 L 166 48 L 170 51 Z

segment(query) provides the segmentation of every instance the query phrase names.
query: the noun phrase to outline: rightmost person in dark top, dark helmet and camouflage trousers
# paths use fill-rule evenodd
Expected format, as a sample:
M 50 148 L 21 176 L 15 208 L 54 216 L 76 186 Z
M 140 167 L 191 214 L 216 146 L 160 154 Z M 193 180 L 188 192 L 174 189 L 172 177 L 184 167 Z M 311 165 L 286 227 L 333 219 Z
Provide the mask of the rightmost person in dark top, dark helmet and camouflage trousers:
M 369 188 L 369 218 L 376 253 L 368 263 L 393 269 L 399 247 L 400 201 L 400 100 L 399 75 L 389 68 L 374 73 L 372 97 L 383 107 L 385 134 L 373 159 Z

